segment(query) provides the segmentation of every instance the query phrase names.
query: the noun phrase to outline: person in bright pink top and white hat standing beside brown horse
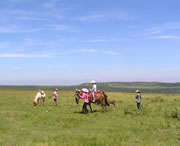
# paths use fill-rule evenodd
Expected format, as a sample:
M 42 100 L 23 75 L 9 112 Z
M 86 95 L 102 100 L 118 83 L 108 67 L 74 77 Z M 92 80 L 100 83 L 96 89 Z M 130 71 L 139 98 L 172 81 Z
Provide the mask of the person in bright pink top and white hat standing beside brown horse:
M 83 88 L 81 91 L 83 92 L 83 94 L 80 95 L 80 98 L 84 99 L 82 113 L 87 114 L 88 113 L 87 105 L 89 104 L 89 99 L 88 99 L 88 92 L 89 92 L 89 90 L 86 89 L 86 88 Z

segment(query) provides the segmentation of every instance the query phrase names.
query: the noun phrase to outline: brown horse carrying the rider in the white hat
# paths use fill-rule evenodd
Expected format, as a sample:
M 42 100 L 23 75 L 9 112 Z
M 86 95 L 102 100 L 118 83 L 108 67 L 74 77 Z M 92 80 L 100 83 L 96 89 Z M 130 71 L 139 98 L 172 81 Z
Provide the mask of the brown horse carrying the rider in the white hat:
M 82 91 L 81 90 L 78 90 L 76 89 L 75 90 L 75 100 L 76 100 L 76 103 L 79 104 L 79 95 L 82 94 Z M 90 91 L 89 92 L 89 102 L 90 103 L 93 103 L 93 95 L 92 95 L 92 92 Z M 107 95 L 104 93 L 103 90 L 97 90 L 96 94 L 95 94 L 95 103 L 97 104 L 100 104 L 102 107 L 106 107 L 106 106 L 109 106 L 109 103 L 107 101 Z

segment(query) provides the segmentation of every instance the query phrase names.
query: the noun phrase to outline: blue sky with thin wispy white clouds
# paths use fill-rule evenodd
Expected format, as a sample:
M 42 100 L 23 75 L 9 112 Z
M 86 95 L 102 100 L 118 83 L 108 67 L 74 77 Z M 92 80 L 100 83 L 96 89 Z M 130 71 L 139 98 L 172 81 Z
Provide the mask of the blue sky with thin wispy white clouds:
M 0 1 L 0 85 L 180 82 L 179 0 Z

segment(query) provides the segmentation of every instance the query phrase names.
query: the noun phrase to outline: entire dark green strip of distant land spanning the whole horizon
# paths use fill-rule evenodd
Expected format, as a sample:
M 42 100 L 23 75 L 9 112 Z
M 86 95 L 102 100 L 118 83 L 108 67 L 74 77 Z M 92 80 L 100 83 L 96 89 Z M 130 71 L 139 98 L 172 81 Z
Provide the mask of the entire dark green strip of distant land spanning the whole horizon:
M 107 82 L 97 83 L 98 89 L 108 92 L 128 92 L 134 93 L 136 89 L 141 90 L 143 93 L 167 93 L 177 94 L 180 93 L 180 83 L 161 83 L 161 82 Z M 83 83 L 74 86 L 0 86 L 0 90 L 53 90 L 58 88 L 64 91 L 74 91 L 76 88 L 91 88 L 90 83 Z

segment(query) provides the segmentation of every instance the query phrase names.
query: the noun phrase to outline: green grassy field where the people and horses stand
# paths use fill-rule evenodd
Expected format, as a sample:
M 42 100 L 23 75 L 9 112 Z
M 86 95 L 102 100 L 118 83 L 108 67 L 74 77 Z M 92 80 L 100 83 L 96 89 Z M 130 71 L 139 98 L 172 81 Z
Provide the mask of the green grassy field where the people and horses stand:
M 0 90 L 2 146 L 139 146 L 180 145 L 180 95 L 142 94 L 143 111 L 134 94 L 107 92 L 116 107 L 81 114 L 73 92 L 60 91 L 58 106 L 47 92 L 45 106 L 32 105 L 36 91 Z

